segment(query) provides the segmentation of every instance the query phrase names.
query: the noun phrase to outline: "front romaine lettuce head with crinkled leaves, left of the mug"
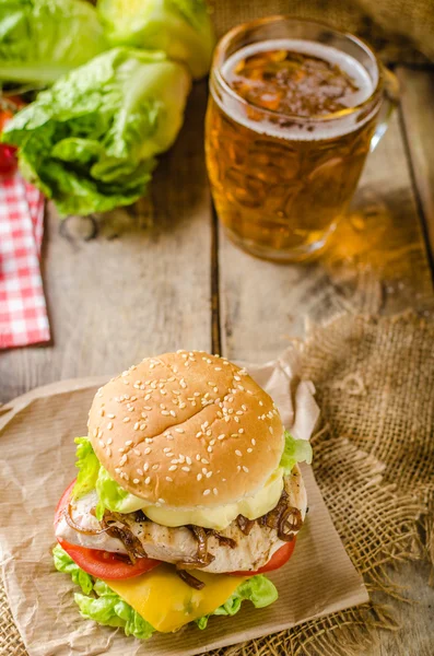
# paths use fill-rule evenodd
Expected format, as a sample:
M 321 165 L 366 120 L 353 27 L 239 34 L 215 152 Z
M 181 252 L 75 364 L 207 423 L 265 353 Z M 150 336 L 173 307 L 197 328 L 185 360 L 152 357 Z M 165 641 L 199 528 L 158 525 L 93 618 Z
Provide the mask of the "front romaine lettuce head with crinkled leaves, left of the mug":
M 2 141 L 20 148 L 24 177 L 61 215 L 104 212 L 143 196 L 189 89 L 185 67 L 164 52 L 115 48 L 39 93 Z

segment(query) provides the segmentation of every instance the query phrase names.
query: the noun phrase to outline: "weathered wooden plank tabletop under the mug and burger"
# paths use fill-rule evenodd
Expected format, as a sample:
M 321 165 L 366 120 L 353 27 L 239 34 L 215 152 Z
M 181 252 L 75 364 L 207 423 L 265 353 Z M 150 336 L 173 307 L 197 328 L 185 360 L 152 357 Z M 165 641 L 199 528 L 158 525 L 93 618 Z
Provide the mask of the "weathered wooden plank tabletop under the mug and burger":
M 1 354 L 0 400 L 178 348 L 262 362 L 289 336 L 302 336 L 306 318 L 340 309 L 411 307 L 433 317 L 434 77 L 421 68 L 397 73 L 401 106 L 368 159 L 351 215 L 322 260 L 308 266 L 254 259 L 219 229 L 201 138 L 207 87 L 197 84 L 136 219 L 116 212 L 95 236 L 89 222 L 69 220 L 60 230 L 49 212 L 43 267 L 52 343 Z M 370 655 L 432 656 L 427 567 L 408 565 L 399 578 L 419 604 L 394 604 L 403 630 L 382 633 Z

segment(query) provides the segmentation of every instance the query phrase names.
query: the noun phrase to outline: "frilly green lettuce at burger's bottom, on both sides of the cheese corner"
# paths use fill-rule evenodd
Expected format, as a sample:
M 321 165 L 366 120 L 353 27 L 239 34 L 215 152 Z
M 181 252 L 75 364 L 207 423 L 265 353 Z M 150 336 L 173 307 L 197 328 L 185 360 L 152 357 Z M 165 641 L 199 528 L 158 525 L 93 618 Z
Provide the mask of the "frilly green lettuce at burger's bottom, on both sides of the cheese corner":
M 120 626 L 126 635 L 133 635 L 139 640 L 151 637 L 155 629 L 104 581 L 83 572 L 60 544 L 55 547 L 52 555 L 56 570 L 69 574 L 83 590 L 83 594 L 75 593 L 74 595 L 74 601 L 83 618 L 107 626 Z M 274 584 L 263 574 L 257 574 L 243 581 L 231 597 L 214 612 L 198 618 L 195 622 L 199 629 L 206 629 L 210 616 L 234 616 L 241 609 L 243 600 L 251 601 L 255 608 L 263 608 L 273 604 L 278 596 Z

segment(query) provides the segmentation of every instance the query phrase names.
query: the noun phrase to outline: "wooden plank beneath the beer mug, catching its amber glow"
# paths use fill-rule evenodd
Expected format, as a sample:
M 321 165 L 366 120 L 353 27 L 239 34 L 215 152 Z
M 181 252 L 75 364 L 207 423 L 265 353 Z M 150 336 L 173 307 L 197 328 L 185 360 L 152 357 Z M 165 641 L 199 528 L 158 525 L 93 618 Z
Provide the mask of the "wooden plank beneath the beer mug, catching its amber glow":
M 235 248 L 220 233 L 223 352 L 265 361 L 303 335 L 305 318 L 345 309 L 434 308 L 432 283 L 398 116 L 368 157 L 349 218 L 321 260 L 278 266 Z

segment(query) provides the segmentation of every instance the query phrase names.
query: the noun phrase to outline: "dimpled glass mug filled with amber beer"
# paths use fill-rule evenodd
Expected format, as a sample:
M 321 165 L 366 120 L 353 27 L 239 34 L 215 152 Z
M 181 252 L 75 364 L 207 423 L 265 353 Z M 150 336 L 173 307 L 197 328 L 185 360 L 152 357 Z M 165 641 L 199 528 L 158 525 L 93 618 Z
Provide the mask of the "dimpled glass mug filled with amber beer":
M 274 261 L 312 258 L 344 215 L 397 96 L 359 38 L 272 16 L 219 43 L 207 166 L 228 237 Z

